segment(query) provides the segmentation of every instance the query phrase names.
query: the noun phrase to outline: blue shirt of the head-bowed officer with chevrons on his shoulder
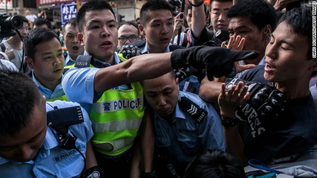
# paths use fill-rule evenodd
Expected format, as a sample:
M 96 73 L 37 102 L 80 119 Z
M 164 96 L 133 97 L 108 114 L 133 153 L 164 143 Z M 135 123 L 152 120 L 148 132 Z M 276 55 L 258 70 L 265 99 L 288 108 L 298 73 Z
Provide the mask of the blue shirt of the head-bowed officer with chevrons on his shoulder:
M 226 145 L 222 125 L 217 112 L 210 103 L 203 101 L 197 94 L 180 91 L 179 97 L 185 96 L 208 112 L 204 121 L 197 123 L 185 113 L 177 103 L 173 112 L 172 124 L 154 114 L 154 133 L 157 146 L 174 156 L 179 162 L 189 163 L 202 149 L 220 149 Z

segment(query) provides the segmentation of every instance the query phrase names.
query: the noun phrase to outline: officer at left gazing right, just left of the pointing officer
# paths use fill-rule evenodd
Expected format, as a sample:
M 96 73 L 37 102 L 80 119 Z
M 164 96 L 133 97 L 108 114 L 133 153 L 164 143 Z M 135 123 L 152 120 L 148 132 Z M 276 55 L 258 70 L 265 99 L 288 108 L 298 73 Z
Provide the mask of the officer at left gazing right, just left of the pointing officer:
M 28 74 L 48 101 L 67 100 L 61 87 L 64 56 L 56 33 L 36 29 L 24 39 L 25 61 L 32 69 Z

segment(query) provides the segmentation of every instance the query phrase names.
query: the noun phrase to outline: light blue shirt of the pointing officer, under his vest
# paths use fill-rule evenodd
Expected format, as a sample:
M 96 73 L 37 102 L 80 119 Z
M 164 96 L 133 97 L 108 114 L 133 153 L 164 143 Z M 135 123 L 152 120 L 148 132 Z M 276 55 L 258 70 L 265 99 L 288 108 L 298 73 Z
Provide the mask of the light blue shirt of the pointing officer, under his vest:
M 86 51 L 84 55 L 89 55 Z M 106 62 L 102 62 L 98 59 L 94 61 L 99 61 L 106 66 L 111 66 Z M 120 60 L 117 53 L 114 53 L 114 64 L 119 64 Z M 78 102 L 82 107 L 86 109 L 88 113 L 91 111 L 92 104 L 96 103 L 97 100 L 102 96 L 103 93 L 94 92 L 94 80 L 99 68 L 86 67 L 70 68 L 62 78 L 61 85 L 65 91 L 66 97 L 69 101 Z M 111 77 L 111 76 L 109 76 Z M 115 80 L 115 79 L 113 79 Z M 122 85 L 113 89 L 129 89 L 127 85 Z

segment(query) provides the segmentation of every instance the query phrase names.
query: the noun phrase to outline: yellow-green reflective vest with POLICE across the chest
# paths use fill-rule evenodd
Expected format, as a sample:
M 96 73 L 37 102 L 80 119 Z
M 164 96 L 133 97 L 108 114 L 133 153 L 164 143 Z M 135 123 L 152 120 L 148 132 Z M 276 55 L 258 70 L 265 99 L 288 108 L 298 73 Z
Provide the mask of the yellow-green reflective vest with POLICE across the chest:
M 129 90 L 106 90 L 92 106 L 92 143 L 103 154 L 122 154 L 131 148 L 137 136 L 144 115 L 143 89 L 140 83 L 130 85 Z

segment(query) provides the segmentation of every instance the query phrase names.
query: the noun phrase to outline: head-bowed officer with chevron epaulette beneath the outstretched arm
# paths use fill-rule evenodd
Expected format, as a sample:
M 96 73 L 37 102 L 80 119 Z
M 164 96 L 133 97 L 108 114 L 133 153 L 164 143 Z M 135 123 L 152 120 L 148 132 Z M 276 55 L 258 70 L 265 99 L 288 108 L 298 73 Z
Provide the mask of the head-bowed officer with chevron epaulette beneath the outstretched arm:
M 179 91 L 178 78 L 170 72 L 142 82 L 153 108 L 158 176 L 184 176 L 188 164 L 204 149 L 225 151 L 220 118 L 212 105 L 198 95 Z

